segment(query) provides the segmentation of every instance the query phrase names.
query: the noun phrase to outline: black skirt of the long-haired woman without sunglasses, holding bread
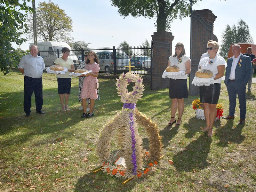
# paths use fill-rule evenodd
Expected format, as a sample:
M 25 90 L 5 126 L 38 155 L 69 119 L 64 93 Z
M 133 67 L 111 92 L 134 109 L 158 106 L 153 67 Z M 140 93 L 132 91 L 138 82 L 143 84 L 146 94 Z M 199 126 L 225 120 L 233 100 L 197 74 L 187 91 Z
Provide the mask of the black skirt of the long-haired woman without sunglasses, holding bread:
M 187 79 L 170 79 L 170 99 L 188 98 Z

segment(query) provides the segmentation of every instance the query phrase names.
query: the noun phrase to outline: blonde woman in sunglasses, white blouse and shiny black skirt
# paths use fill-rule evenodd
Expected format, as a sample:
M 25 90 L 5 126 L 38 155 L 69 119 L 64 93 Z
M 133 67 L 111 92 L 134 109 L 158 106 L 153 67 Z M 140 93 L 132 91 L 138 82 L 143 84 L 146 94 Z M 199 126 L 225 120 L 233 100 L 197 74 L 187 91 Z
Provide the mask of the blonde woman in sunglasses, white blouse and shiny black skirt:
M 221 77 L 224 75 L 227 62 L 223 57 L 217 55 L 219 44 L 216 41 L 208 42 L 206 49 L 209 57 L 204 57 L 200 60 L 199 69 L 212 71 L 214 84 L 211 84 L 210 86 L 200 86 L 199 90 L 200 102 L 203 103 L 206 121 L 206 126 L 203 129 L 203 132 L 208 131 L 208 137 L 212 137 L 212 128 L 217 115 L 216 105 L 220 97 Z

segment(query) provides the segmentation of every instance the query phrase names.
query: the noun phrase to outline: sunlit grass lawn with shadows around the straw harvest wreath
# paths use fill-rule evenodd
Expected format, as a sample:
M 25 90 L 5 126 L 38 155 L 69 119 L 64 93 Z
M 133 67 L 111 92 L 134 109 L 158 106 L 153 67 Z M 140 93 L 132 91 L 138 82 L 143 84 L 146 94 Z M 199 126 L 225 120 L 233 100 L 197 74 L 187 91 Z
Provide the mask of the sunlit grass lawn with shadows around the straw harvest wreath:
M 0 192 L 7 191 L 255 191 L 256 184 L 256 84 L 246 93 L 247 118 L 238 125 L 237 100 L 234 120 L 218 120 L 214 135 L 207 137 L 196 119 L 191 102 L 185 99 L 185 111 L 179 127 L 167 126 L 171 118 L 169 89 L 151 91 L 149 77 L 143 80 L 145 91 L 137 102 L 140 112 L 156 122 L 163 137 L 163 158 L 159 168 L 146 179 L 114 178 L 102 171 L 95 147 L 101 128 L 121 111 L 123 104 L 116 93 L 115 78 L 99 77 L 100 100 L 95 101 L 94 116 L 82 119 L 78 110 L 78 77 L 72 78 L 70 111 L 62 112 L 57 79 L 43 74 L 45 115 L 36 114 L 32 96 L 31 117 L 23 111 L 24 76 L 14 70 L 0 74 Z M 228 115 L 228 92 L 221 84 L 219 103 Z M 178 115 L 176 115 L 177 119 Z M 148 136 L 139 128 L 143 147 Z M 113 138 L 116 138 L 113 135 Z M 113 149 L 116 140 L 112 138 Z M 168 163 L 174 162 L 173 165 Z

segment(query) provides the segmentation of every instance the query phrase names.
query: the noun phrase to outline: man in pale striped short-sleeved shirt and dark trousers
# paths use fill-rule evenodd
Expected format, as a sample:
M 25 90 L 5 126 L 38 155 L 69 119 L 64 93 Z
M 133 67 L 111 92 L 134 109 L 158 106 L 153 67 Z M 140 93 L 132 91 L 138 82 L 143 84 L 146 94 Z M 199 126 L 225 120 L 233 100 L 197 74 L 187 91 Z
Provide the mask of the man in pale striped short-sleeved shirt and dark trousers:
M 37 45 L 30 47 L 30 54 L 20 59 L 19 70 L 24 75 L 24 111 L 26 117 L 30 117 L 31 96 L 35 93 L 36 113 L 45 114 L 42 111 L 43 106 L 43 82 L 42 74 L 45 69 L 44 60 L 38 56 Z

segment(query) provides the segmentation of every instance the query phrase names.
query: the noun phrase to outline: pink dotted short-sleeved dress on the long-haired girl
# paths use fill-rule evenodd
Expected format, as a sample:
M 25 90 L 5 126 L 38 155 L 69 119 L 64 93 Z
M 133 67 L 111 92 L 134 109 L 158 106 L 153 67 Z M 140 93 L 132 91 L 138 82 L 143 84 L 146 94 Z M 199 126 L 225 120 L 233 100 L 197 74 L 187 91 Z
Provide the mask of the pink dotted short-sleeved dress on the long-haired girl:
M 85 64 L 85 69 L 92 70 L 92 73 L 99 72 L 100 66 L 98 63 Z M 81 99 L 98 99 L 97 89 L 95 84 L 98 83 L 97 77 L 84 77 L 84 83 L 81 91 Z

